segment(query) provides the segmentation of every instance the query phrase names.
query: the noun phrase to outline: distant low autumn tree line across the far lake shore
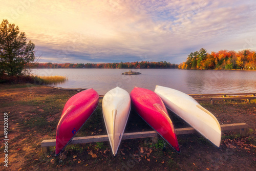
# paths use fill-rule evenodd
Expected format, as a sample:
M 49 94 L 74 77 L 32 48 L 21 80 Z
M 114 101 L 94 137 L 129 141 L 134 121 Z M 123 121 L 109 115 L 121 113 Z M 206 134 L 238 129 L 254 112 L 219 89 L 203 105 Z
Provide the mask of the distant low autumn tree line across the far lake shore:
M 160 62 L 114 62 L 114 63 L 38 63 L 36 68 L 102 68 L 102 69 L 177 69 L 178 65 Z

